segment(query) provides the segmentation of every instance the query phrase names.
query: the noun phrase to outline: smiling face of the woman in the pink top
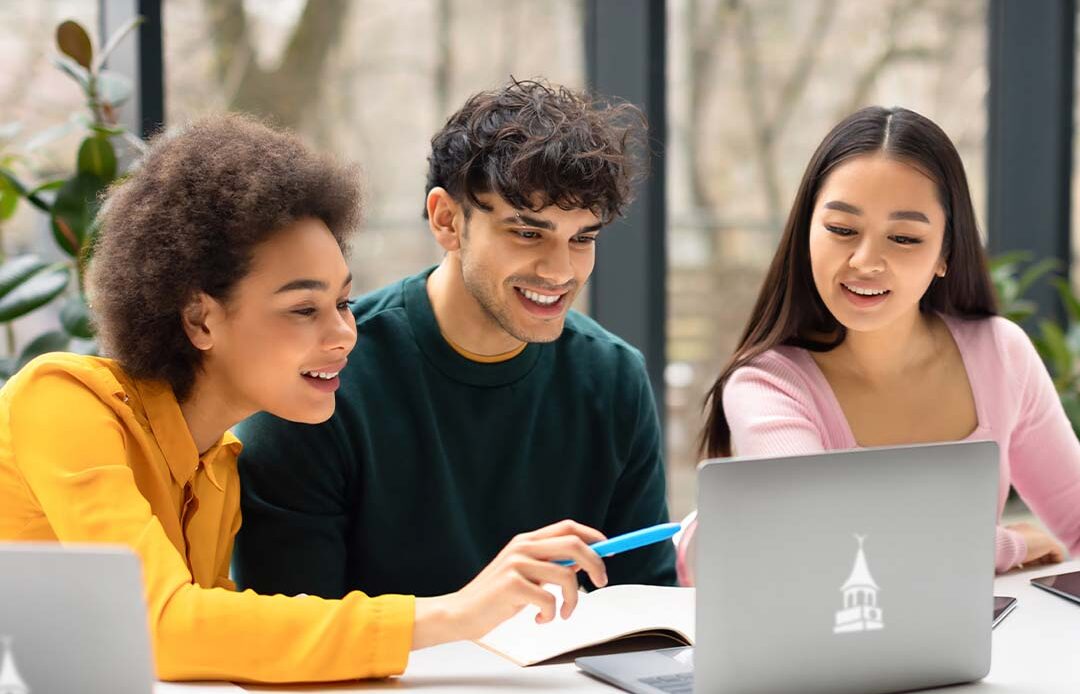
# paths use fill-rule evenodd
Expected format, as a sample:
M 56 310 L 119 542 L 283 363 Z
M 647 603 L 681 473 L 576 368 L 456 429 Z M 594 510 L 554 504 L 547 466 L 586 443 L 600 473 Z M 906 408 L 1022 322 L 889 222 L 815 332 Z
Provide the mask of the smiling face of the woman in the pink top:
M 882 154 L 851 159 L 825 179 L 810 221 L 818 294 L 849 330 L 874 331 L 918 312 L 944 276 L 945 210 L 937 186 Z

